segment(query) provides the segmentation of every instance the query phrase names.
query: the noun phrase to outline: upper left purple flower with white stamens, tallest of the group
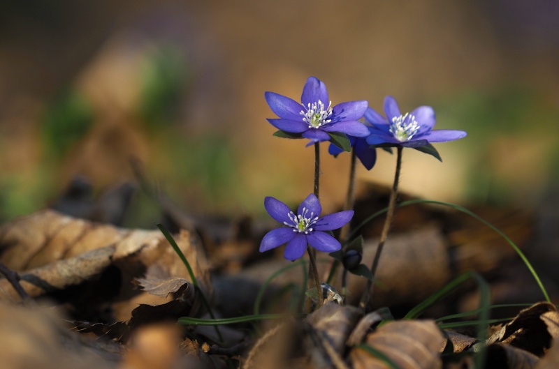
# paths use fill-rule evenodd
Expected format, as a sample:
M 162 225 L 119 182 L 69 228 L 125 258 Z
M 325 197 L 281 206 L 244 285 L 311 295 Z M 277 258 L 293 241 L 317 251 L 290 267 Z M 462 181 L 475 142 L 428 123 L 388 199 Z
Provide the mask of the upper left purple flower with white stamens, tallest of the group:
M 365 125 L 358 121 L 365 114 L 368 103 L 350 101 L 331 107 L 326 85 L 315 77 L 309 77 L 303 87 L 302 104 L 269 91 L 264 97 L 270 109 L 279 116 L 279 119 L 268 119 L 272 126 L 296 137 L 308 138 L 310 143 L 330 140 L 329 132 L 356 137 L 369 135 Z

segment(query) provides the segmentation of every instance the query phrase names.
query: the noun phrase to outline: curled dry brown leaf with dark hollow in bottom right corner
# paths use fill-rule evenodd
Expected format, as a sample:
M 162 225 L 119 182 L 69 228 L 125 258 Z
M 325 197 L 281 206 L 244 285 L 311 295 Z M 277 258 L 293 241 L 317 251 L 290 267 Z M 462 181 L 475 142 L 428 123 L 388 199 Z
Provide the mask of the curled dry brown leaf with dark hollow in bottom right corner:
M 556 334 L 557 310 L 551 303 L 536 303 L 529 308 L 518 312 L 511 322 L 493 333 L 486 341 L 491 343 L 505 343 L 537 356 L 543 356 L 546 349 L 551 345 L 551 333 L 548 324 L 555 326 L 553 334 Z

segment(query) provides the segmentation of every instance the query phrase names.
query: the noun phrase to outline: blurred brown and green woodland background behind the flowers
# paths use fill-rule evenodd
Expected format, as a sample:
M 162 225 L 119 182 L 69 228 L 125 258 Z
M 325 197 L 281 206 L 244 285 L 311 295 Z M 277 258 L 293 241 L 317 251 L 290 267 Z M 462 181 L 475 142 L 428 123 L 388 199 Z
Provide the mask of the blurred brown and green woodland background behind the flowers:
M 401 188 L 475 204 L 558 198 L 559 2 L 3 1 L 0 220 L 52 205 L 68 183 L 136 188 L 130 226 L 152 227 L 147 181 L 197 215 L 263 213 L 312 192 L 314 152 L 272 137 L 264 100 L 307 77 L 333 105 L 390 94 L 431 105 L 443 163 L 404 153 Z M 325 211 L 343 202 L 349 155 L 323 152 Z M 379 151 L 363 181 L 390 183 Z M 124 185 L 123 185 L 124 183 Z M 126 187 L 130 186 L 130 187 Z M 152 206 L 150 208 L 150 206 Z

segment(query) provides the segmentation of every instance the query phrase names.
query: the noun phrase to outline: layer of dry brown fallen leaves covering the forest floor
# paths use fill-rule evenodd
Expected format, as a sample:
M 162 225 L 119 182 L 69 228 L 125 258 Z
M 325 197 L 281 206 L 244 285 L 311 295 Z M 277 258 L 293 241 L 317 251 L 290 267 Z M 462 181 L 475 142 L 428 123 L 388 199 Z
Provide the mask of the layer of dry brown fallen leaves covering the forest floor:
M 361 197 L 356 209 L 377 201 L 382 202 Z M 221 228 L 213 234 L 211 227 L 197 227 L 193 218 L 171 208 L 177 223 L 187 224 L 175 241 L 215 317 L 252 313 L 263 281 L 286 265 L 277 255 L 254 252 L 270 225 L 243 218 L 230 231 Z M 493 247 L 500 240 L 477 225 L 454 213 L 420 208 L 423 218 L 414 227 L 401 221 L 413 218 L 418 209 L 400 209 L 401 223 L 387 241 L 379 269 L 382 283 L 375 303 L 396 306 L 396 313 L 398 306 L 422 301 L 460 271 L 473 268 L 491 276 L 512 258 L 506 247 Z M 497 213 L 499 217 L 507 219 L 507 214 Z M 528 224 L 522 218 L 508 220 L 511 228 Z M 373 222 L 363 232 L 368 234 L 365 258 L 374 254 L 375 227 Z M 506 221 L 501 227 L 507 227 Z M 516 232 L 521 245 L 530 238 L 530 229 L 523 229 Z M 488 244 L 493 249 L 489 258 Z M 235 253 L 235 248 L 244 251 Z M 231 360 L 241 368 L 455 368 L 470 365 L 481 344 L 466 330 L 444 330 L 430 319 L 391 322 L 386 310 L 364 314 L 351 306 L 364 285 L 358 276 L 348 278 L 350 305 L 327 303 L 304 319 L 218 329 L 179 326 L 179 317 L 211 317 L 161 232 L 51 210 L 1 226 L 0 252 L 0 261 L 17 272 L 32 298 L 22 302 L 10 282 L 0 278 L 5 368 L 227 368 Z M 328 264 L 319 264 L 326 275 Z M 262 295 L 264 312 L 285 312 L 300 301 L 301 271 L 293 270 L 268 285 Z M 457 301 L 470 290 L 458 291 Z M 435 309 L 433 315 L 444 312 Z M 558 332 L 555 306 L 537 303 L 521 310 L 488 333 L 486 366 L 556 368 Z M 15 342 L 20 350 L 11 349 Z

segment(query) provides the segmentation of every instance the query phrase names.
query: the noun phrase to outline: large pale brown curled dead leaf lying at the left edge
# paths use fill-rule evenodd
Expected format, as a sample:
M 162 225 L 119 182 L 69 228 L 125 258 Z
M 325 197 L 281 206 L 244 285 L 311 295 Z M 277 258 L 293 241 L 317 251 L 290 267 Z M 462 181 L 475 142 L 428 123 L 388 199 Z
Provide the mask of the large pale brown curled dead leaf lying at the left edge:
M 182 231 L 175 240 L 189 260 L 198 285 L 209 295 L 208 266 L 199 252 L 196 237 Z M 190 279 L 184 264 L 159 230 L 99 225 L 50 210 L 0 227 L 0 250 L 0 261 L 16 271 L 25 271 L 22 287 L 30 296 L 80 285 L 95 276 L 103 276 L 110 268 L 116 268 L 117 276 L 103 281 L 102 287 L 116 289 L 120 301 L 138 295 L 131 282 L 154 265 L 163 269 L 166 277 Z M 115 286 L 117 280 L 119 285 Z M 3 279 L 0 279 L 0 299 L 19 300 Z M 129 316 L 138 302 L 141 303 L 134 301 L 128 307 L 119 306 L 120 316 Z

